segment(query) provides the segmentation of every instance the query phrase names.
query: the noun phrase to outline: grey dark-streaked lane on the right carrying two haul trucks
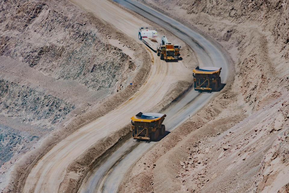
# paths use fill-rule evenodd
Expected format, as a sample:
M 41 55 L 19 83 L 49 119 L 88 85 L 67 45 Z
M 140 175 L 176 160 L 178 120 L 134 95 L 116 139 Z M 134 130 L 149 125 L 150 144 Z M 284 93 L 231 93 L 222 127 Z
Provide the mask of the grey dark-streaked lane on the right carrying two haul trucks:
M 195 51 L 200 64 L 222 67 L 222 82 L 226 82 L 230 68 L 221 51 L 200 34 L 183 26 L 181 23 L 160 14 L 159 12 L 134 1 L 116 0 L 121 5 L 141 14 L 142 16 L 158 22 L 167 30 L 188 43 Z M 81 1 L 83 3 L 83 1 Z M 217 93 L 198 93 L 191 89 L 182 99 L 171 105 L 164 112 L 167 118 L 164 121 L 167 131 L 172 131 L 184 122 L 189 114 L 193 114 Z M 135 140 L 125 142 L 114 150 L 111 155 L 104 156 L 101 163 L 95 165 L 83 180 L 79 189 L 81 193 L 89 192 L 119 192 L 122 180 L 132 165 L 149 150 L 156 142 L 137 143 Z M 141 167 L 142 168 L 142 167 Z

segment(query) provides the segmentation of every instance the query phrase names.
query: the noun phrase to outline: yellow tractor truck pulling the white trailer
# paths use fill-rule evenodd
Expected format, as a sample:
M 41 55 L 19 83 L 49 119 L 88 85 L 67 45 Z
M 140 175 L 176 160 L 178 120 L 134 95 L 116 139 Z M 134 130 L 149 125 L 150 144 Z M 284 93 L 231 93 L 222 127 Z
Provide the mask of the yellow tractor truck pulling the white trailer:
M 161 44 L 157 46 L 157 55 L 161 60 L 178 60 L 181 46 L 168 42 L 166 36 L 161 39 Z

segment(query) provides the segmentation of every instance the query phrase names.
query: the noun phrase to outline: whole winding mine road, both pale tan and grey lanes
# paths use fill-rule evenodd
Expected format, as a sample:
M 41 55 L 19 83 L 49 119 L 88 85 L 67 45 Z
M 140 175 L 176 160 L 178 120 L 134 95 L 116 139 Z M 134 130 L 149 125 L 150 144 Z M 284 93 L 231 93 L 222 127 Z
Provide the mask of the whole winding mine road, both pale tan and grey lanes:
M 97 17 L 116 26 L 123 33 L 135 39 L 138 38 L 138 28 L 148 26 L 147 23 L 105 0 L 70 1 L 94 13 Z M 206 64 L 222 67 L 222 83 L 226 82 L 229 74 L 228 62 L 222 52 L 203 36 L 140 3 L 122 0 L 117 0 L 117 2 L 163 26 L 184 40 L 194 50 L 200 66 Z M 170 24 L 168 25 L 166 22 Z M 149 111 L 162 100 L 171 84 L 178 80 L 192 80 L 192 72 L 181 61 L 166 63 L 159 60 L 155 53 L 152 53 L 152 57 L 155 58 L 154 65 L 151 66 L 147 82 L 141 86 L 139 91 L 117 109 L 82 127 L 55 145 L 33 167 L 22 192 L 58 192 L 67 166 L 76 157 L 97 140 L 125 126 L 129 123 L 132 115 L 137 114 L 140 110 L 142 112 Z M 164 112 L 169 117 L 164 122 L 166 130 L 172 131 L 184 122 L 189 114 L 197 111 L 216 94 L 198 93 L 191 89 L 182 99 Z M 135 143 L 134 140 L 124 143 L 113 154 L 109 155 L 107 160 L 103 160 L 100 166 L 95 166 L 84 180 L 79 191 L 117 192 L 127 169 L 141 157 L 142 152 L 151 148 L 153 144 L 154 142 Z

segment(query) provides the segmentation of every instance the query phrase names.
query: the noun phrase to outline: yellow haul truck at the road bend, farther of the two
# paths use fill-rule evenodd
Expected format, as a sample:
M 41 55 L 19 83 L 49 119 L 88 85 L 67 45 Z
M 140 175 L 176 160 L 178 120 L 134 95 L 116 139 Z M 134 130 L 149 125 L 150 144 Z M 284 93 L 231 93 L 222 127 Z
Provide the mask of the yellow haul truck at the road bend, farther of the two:
M 193 70 L 194 89 L 217 91 L 221 86 L 221 67 L 196 67 Z

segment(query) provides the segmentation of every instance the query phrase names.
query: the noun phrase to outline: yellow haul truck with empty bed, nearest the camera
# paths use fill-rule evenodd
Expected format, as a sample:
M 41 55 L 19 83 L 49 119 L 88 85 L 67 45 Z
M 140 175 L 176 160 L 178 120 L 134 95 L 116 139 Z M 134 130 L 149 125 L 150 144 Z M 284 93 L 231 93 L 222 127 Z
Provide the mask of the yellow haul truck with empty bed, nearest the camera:
M 158 140 L 165 135 L 166 127 L 162 125 L 165 114 L 141 113 L 139 112 L 132 119 L 132 138 Z

